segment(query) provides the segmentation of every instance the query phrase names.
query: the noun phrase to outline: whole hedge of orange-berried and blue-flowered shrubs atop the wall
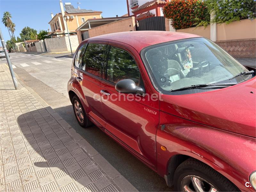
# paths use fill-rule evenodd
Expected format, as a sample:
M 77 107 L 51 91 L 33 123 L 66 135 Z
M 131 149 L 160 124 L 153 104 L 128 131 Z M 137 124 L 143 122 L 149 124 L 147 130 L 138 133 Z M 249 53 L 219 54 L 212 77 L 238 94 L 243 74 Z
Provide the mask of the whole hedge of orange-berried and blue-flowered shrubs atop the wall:
M 210 22 L 227 24 L 240 19 L 255 19 L 255 0 L 171 0 L 163 7 L 175 29 L 207 26 Z M 210 21 L 210 12 L 214 18 Z

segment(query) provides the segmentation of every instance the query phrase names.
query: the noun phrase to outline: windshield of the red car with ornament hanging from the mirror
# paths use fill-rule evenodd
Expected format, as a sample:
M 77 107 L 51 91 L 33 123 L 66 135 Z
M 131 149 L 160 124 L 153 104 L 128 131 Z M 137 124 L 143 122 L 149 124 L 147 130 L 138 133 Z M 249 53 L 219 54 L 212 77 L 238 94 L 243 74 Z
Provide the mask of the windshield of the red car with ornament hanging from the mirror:
M 198 84 L 240 83 L 251 77 L 248 74 L 231 80 L 248 70 L 206 38 L 152 45 L 141 54 L 152 83 L 163 93 Z

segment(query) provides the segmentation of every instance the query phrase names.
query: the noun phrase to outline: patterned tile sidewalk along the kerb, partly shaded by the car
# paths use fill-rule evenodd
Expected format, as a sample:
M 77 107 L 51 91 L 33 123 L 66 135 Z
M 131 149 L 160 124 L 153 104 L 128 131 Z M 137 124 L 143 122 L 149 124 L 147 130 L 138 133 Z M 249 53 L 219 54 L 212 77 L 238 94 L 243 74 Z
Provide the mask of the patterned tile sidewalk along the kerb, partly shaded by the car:
M 0 191 L 137 191 L 0 64 Z M 39 102 L 40 101 L 40 102 Z

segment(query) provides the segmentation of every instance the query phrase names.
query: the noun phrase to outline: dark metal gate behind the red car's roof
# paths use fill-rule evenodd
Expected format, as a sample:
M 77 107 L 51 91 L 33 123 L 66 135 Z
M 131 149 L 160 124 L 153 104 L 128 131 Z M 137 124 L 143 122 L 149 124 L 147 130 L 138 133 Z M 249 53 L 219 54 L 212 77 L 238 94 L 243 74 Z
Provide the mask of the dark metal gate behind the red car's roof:
M 149 17 L 139 21 L 137 31 L 165 31 L 164 17 Z

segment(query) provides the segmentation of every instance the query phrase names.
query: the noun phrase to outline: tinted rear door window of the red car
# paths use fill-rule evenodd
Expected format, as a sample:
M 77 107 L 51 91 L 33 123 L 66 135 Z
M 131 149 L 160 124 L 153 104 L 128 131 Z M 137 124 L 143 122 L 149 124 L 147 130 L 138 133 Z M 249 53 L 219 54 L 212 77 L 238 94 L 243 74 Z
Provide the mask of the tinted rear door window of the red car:
M 99 77 L 105 49 L 106 45 L 104 44 L 88 44 L 84 53 L 82 69 Z

